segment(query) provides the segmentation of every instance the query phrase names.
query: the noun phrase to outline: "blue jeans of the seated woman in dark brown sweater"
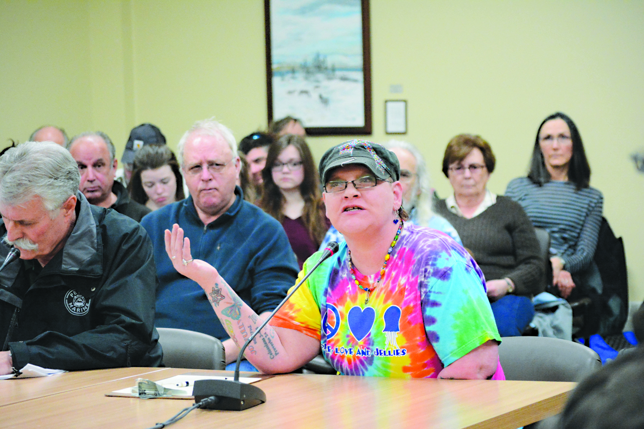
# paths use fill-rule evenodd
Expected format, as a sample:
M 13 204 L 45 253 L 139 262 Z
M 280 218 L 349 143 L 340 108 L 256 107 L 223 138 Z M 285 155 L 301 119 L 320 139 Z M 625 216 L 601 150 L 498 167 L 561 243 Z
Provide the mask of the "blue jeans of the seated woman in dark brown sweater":
M 535 306 L 527 297 L 506 295 L 490 305 L 501 336 L 521 336 L 535 317 Z

